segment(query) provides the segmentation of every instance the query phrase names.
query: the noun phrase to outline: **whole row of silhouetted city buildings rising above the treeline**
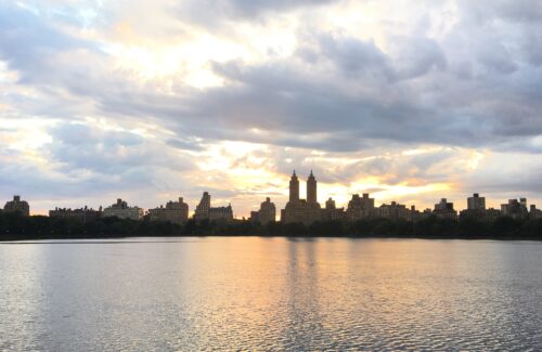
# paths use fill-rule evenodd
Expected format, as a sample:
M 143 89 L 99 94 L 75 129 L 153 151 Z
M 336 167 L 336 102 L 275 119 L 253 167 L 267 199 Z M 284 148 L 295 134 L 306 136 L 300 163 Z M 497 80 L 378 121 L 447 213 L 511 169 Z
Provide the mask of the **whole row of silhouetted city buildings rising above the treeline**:
M 24 216 L 29 216 L 29 205 L 25 200 L 21 200 L 20 196 L 14 196 L 13 200 L 5 204 L 4 212 L 21 212 Z M 52 218 L 74 219 L 81 222 L 89 222 L 99 218 L 117 217 L 120 219 L 143 220 L 150 221 L 169 221 L 171 223 L 182 224 L 189 220 L 189 205 L 180 197 L 178 200 L 170 200 L 166 206 L 149 209 L 145 211 L 137 206 L 130 207 L 122 199 L 105 209 L 100 207 L 98 210 L 92 208 L 68 209 L 55 208 L 49 211 Z M 501 205 L 501 209 L 486 208 L 486 198 L 480 197 L 475 193 L 467 198 L 467 209 L 457 213 L 453 203 L 442 198 L 435 205 L 434 209 L 425 209 L 418 211 L 414 206 L 406 207 L 396 201 L 389 205 L 383 204 L 375 207 L 375 199 L 364 193 L 361 196 L 352 195 L 348 201 L 347 208 L 337 208 L 335 200 L 328 198 L 325 201 L 324 208 L 318 203 L 318 181 L 310 171 L 307 178 L 307 198 L 302 199 L 299 195 L 299 179 L 294 171 L 289 180 L 288 201 L 284 209 L 281 210 L 280 221 L 283 223 L 302 223 L 312 224 L 319 221 L 358 221 L 369 218 L 385 218 L 391 220 L 418 221 L 429 216 L 436 216 L 442 219 L 456 220 L 459 217 L 475 217 L 481 220 L 494 220 L 499 217 L 506 216 L 514 219 L 539 219 L 542 218 L 542 211 L 537 209 L 534 205 L 529 208 L 527 199 L 509 199 L 507 204 Z M 196 206 L 193 219 L 195 221 L 233 221 L 234 214 L 231 204 L 227 207 L 211 207 L 211 196 L 208 192 L 204 192 L 199 204 Z M 260 204 L 258 211 L 250 212 L 250 221 L 267 224 L 276 220 L 275 205 L 268 197 L 266 201 Z

